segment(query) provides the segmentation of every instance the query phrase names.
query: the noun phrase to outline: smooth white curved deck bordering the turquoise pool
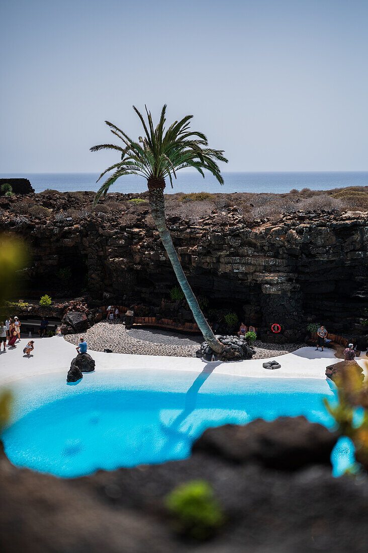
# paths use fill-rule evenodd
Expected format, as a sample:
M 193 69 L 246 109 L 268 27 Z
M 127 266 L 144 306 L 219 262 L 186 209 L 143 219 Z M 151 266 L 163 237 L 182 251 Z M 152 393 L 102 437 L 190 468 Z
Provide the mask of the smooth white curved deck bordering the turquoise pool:
M 34 338 L 33 357 L 24 357 L 23 348 L 27 338 L 17 342 L 17 348 L 0 353 L 0 385 L 6 386 L 12 382 L 36 375 L 57 373 L 70 368 L 72 358 L 76 356 L 75 345 L 66 342 L 62 337 Z M 302 347 L 293 353 L 286 353 L 269 359 L 248 359 L 238 362 L 206 363 L 196 357 L 168 357 L 151 355 L 133 355 L 125 353 L 103 353 L 90 350 L 96 361 L 96 372 L 109 369 L 160 369 L 163 371 L 193 371 L 194 373 L 213 372 L 245 377 L 260 378 L 323 378 L 326 366 L 338 363 L 334 351 L 315 351 L 314 347 Z M 276 359 L 281 368 L 274 371 L 264 369 L 262 363 Z M 367 359 L 362 352 L 356 359 L 364 369 L 367 378 Z

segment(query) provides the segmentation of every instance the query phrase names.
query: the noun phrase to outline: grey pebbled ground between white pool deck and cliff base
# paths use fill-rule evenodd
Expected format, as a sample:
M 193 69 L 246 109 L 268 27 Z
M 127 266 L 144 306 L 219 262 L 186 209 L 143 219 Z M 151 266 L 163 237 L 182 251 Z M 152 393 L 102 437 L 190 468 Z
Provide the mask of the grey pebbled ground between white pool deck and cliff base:
M 65 336 L 68 342 L 78 344 L 79 334 Z M 140 355 L 168 355 L 175 357 L 195 357 L 195 352 L 203 338 L 157 328 L 131 328 L 126 330 L 120 321 L 101 321 L 84 332 L 88 347 L 95 351 L 112 349 L 114 353 L 134 353 Z M 303 347 L 303 343 L 272 344 L 256 341 L 253 359 L 277 357 Z

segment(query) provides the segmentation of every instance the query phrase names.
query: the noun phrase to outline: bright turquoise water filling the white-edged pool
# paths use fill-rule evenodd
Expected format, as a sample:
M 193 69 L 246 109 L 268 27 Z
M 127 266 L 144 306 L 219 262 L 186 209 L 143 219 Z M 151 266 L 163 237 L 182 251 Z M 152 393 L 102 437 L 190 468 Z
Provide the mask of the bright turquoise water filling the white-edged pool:
M 61 477 L 185 458 L 209 426 L 281 415 L 333 425 L 322 398 L 334 400 L 334 392 L 322 379 L 109 371 L 75 385 L 65 384 L 65 375 L 42 377 L 41 385 L 34 379 L 17 397 L 2 436 L 6 455 L 14 465 Z M 349 442 L 338 444 L 335 474 L 352 455 Z

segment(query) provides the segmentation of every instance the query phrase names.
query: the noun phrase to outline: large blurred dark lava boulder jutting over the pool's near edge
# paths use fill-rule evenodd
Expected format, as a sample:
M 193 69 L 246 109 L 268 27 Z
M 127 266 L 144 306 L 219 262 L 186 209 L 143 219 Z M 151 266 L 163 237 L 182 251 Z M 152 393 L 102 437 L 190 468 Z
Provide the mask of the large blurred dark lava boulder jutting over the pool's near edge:
M 237 463 L 257 462 L 265 467 L 295 471 L 308 465 L 330 465 L 338 436 L 304 416 L 256 419 L 245 426 L 227 424 L 209 428 L 193 446 L 193 453 Z

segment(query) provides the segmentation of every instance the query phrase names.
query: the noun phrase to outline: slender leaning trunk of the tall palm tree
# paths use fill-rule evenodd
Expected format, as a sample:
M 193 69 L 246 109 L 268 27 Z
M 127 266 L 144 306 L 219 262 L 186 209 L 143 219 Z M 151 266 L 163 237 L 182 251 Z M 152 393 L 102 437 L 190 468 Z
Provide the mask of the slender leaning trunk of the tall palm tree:
M 170 262 L 173 265 L 175 275 L 177 275 L 180 288 L 182 288 L 184 292 L 186 301 L 188 302 L 191 312 L 193 313 L 195 322 L 198 325 L 199 330 L 201 331 L 204 339 L 209 343 L 213 351 L 215 351 L 216 353 L 221 353 L 224 349 L 224 346 L 221 344 L 221 342 L 219 342 L 219 340 L 217 340 L 217 338 L 215 338 L 210 325 L 206 321 L 203 312 L 198 305 L 198 301 L 193 294 L 193 290 L 190 288 L 182 265 L 180 264 L 170 232 L 168 231 L 168 228 L 165 224 L 165 202 L 163 192 L 164 187 L 165 181 L 163 179 L 148 180 L 149 205 L 151 206 L 153 220 L 159 232 L 164 248 L 167 251 Z

